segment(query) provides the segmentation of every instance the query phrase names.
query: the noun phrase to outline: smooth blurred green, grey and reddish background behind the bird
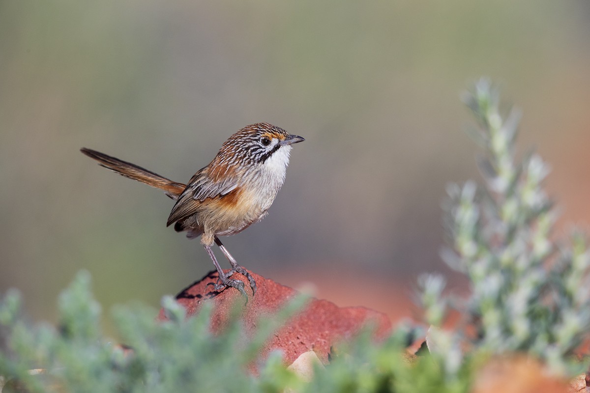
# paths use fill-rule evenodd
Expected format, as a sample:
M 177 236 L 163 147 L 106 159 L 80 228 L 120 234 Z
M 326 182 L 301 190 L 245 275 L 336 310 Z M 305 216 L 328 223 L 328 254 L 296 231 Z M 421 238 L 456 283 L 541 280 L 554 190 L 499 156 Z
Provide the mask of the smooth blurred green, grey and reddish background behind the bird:
M 440 205 L 445 184 L 478 179 L 459 96 L 482 75 L 523 111 L 520 151 L 552 167 L 556 235 L 587 226 L 586 0 L 0 1 L 0 292 L 54 321 L 86 269 L 106 311 L 158 307 L 212 263 L 166 228 L 172 200 L 79 148 L 186 182 L 267 121 L 306 142 L 230 252 L 338 305 L 412 316 L 420 273 L 456 278 Z

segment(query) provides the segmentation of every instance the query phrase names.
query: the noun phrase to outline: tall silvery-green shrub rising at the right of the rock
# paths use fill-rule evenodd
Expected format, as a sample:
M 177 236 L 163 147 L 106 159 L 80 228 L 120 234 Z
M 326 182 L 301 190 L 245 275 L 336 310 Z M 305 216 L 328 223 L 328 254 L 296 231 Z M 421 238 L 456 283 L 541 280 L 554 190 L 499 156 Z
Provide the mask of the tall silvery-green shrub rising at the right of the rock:
M 538 154 L 516 157 L 520 114 L 503 111 L 499 91 L 482 79 L 464 94 L 477 119 L 470 134 L 485 151 L 478 158 L 483 184 L 447 187 L 444 226 L 448 266 L 467 276 L 470 296 L 445 296 L 442 276 L 421 277 L 425 319 L 434 351 L 457 369 L 457 354 L 528 352 L 553 369 L 574 372 L 576 347 L 590 327 L 590 254 L 576 231 L 554 240 L 552 202 L 542 188 L 549 173 Z M 504 116 L 503 113 L 507 112 Z M 438 329 L 450 309 L 453 331 Z M 577 371 L 577 370 L 576 370 Z

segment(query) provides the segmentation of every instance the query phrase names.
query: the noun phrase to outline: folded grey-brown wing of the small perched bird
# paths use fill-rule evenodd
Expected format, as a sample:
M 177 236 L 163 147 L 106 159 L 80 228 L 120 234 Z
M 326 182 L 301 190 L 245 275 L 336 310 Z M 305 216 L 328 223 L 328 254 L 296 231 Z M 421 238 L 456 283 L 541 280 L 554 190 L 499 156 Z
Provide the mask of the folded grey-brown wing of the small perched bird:
M 223 197 L 238 187 L 238 179 L 235 176 L 224 176 L 223 180 L 213 181 L 205 170 L 199 170 L 182 191 L 172 207 L 166 226 L 198 212 L 205 199 Z

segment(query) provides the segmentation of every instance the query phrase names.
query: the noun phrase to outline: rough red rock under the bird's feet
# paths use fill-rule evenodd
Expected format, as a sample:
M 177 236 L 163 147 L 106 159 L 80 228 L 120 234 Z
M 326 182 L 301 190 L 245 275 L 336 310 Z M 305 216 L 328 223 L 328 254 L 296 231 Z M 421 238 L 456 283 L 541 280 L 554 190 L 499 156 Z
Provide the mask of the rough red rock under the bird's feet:
M 225 325 L 232 307 L 236 302 L 240 302 L 243 305 L 241 318 L 245 332 L 251 336 L 260 318 L 274 315 L 297 294 L 293 288 L 254 273 L 252 276 L 258 288 L 255 296 L 252 296 L 248 280 L 244 276 L 239 273 L 232 276 L 233 279 L 246 283 L 246 304 L 237 289 L 228 288 L 216 292 L 211 285 L 207 286 L 208 283 L 217 281 L 217 272 L 209 273 L 201 281 L 183 290 L 176 296 L 176 300 L 185 306 L 187 316 L 198 312 L 205 302 L 214 302 L 211 317 L 211 329 L 214 332 Z M 165 319 L 163 311 L 160 311 L 159 318 Z M 314 351 L 325 364 L 328 361 L 330 347 L 352 338 L 366 323 L 376 326 L 376 339 L 384 338 L 391 331 L 391 321 L 383 313 L 364 307 L 340 308 L 327 300 L 312 298 L 303 311 L 289 319 L 286 325 L 272 336 L 264 346 L 261 356 L 266 358 L 270 351 L 281 349 L 286 364 L 291 364 L 304 352 Z

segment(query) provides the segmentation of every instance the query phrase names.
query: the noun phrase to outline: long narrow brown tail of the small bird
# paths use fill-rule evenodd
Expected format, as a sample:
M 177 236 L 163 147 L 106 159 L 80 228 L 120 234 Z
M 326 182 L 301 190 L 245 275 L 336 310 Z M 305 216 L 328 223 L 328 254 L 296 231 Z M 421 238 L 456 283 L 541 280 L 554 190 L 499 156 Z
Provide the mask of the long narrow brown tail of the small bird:
M 86 156 L 99 161 L 100 166 L 119 173 L 124 177 L 129 177 L 129 179 L 141 181 L 142 183 L 148 184 L 148 186 L 164 190 L 166 195 L 172 199 L 178 199 L 178 196 L 186 188 L 186 184 L 176 183 L 175 181 L 166 179 L 157 173 L 138 167 L 135 164 L 127 163 L 126 161 L 119 160 L 119 158 L 107 156 L 106 154 L 100 153 L 100 151 L 91 150 L 86 147 L 81 148 L 80 151 L 86 154 Z

